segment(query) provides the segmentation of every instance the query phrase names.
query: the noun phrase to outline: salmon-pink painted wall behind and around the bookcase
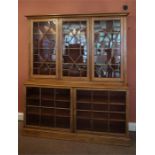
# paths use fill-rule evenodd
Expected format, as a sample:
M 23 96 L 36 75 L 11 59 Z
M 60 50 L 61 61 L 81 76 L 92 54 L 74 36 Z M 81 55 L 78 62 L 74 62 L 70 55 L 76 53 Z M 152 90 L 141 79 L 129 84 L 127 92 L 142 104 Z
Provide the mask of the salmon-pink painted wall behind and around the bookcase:
M 128 16 L 128 84 L 130 90 L 131 122 L 136 121 L 136 0 L 19 0 L 18 24 L 18 90 L 19 112 L 23 111 L 23 82 L 28 80 L 28 23 L 26 15 L 41 14 L 84 14 L 123 12 L 122 5 L 127 4 Z

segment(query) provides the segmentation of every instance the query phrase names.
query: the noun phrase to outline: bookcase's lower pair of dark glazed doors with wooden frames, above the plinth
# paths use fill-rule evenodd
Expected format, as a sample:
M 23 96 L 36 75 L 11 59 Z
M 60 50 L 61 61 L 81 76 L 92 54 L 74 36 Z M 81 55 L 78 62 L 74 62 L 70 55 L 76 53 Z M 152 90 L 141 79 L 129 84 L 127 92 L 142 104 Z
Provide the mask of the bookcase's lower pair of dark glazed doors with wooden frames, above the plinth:
M 127 97 L 127 90 L 27 85 L 25 129 L 125 138 Z

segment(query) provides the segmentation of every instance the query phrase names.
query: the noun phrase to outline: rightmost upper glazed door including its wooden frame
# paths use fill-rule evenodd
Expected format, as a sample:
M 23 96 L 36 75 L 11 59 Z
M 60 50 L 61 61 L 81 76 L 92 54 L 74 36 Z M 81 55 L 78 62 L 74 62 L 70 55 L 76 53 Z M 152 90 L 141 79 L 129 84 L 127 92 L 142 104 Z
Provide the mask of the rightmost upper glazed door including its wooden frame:
M 122 81 L 125 61 L 123 18 L 94 18 L 92 21 L 92 77 Z

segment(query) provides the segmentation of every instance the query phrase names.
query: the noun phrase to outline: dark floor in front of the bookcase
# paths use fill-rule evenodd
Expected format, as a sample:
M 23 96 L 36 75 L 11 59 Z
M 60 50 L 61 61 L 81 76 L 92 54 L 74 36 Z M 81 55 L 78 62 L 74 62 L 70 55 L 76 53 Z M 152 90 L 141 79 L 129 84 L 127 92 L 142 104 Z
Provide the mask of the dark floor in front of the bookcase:
M 22 135 L 19 122 L 19 155 L 136 155 L 136 135 L 130 133 L 130 146 L 90 144 Z

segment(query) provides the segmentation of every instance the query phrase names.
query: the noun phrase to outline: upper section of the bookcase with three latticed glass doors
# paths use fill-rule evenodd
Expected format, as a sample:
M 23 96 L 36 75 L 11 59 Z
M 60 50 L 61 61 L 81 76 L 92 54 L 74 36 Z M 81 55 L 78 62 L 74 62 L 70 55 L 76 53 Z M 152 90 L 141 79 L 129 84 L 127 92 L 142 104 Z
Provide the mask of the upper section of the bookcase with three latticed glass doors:
M 126 82 L 126 16 L 29 17 L 31 78 Z

